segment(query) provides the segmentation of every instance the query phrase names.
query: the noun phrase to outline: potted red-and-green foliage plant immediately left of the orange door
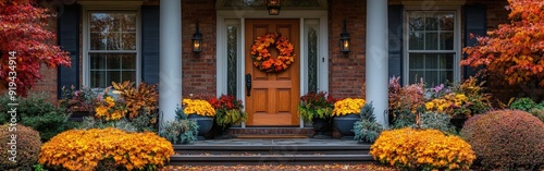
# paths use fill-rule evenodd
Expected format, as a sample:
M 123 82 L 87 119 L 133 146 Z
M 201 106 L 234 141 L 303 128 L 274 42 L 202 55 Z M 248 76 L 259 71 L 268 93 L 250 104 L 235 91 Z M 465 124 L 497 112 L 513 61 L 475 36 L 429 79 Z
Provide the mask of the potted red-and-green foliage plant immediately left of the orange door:
M 242 100 L 233 95 L 212 97 L 208 102 L 215 109 L 215 124 L 220 132 L 217 138 L 230 138 L 228 129 L 233 124 L 240 124 L 247 120 L 247 114 L 242 110 L 244 108 Z

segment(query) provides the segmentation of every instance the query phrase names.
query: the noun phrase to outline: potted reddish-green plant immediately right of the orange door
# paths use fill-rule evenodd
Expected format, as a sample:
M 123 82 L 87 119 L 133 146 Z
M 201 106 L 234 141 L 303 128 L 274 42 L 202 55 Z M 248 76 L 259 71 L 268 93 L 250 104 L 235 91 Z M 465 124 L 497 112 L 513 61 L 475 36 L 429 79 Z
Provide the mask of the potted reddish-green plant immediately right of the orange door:
M 316 135 L 313 138 L 330 138 L 326 131 L 330 127 L 331 113 L 334 108 L 334 99 L 326 96 L 325 91 L 308 91 L 300 97 L 300 105 L 298 106 L 298 115 L 306 122 L 311 122 Z

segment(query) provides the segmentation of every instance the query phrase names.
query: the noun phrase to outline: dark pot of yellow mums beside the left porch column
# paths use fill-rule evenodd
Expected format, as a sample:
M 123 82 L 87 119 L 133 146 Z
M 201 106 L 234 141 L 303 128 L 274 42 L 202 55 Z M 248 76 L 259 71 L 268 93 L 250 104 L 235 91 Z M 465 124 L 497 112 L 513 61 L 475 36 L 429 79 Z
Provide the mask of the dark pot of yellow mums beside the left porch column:
M 197 139 L 203 141 L 205 135 L 213 125 L 215 109 L 207 100 L 184 98 L 182 100 L 183 112 L 187 114 L 187 119 L 194 120 L 198 124 Z

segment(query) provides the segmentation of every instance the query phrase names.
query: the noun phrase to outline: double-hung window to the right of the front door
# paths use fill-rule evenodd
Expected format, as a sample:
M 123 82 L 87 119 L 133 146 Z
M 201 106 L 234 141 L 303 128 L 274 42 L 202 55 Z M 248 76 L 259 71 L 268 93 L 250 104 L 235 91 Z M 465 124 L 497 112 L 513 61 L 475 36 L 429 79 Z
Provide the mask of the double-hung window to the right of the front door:
M 457 11 L 407 11 L 407 71 L 410 84 L 420 78 L 433 86 L 459 78 Z M 406 65 L 405 65 L 406 66 Z

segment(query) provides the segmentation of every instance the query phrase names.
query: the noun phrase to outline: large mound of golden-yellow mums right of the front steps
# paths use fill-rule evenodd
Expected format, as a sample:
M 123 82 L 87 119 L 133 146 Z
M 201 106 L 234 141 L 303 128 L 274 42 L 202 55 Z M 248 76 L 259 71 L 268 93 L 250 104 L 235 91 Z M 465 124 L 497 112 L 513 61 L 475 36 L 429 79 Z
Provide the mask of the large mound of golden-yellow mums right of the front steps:
M 458 136 L 410 127 L 383 132 L 370 154 L 403 170 L 469 170 L 475 159 L 471 146 Z

